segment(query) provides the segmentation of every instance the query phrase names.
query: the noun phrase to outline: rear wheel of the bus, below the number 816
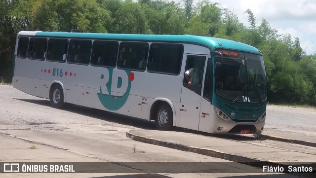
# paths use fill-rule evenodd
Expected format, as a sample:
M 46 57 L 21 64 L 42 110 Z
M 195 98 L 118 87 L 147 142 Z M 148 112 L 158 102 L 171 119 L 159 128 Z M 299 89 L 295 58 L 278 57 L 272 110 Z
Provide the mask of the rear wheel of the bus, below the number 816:
M 54 84 L 49 92 L 50 105 L 61 108 L 64 105 L 64 92 L 59 84 Z

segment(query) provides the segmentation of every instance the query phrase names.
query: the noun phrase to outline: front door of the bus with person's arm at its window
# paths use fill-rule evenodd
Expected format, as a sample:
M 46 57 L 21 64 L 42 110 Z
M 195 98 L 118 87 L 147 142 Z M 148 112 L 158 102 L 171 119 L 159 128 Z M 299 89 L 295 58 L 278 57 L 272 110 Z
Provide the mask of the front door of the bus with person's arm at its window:
M 179 127 L 198 130 L 206 55 L 187 55 L 181 91 Z

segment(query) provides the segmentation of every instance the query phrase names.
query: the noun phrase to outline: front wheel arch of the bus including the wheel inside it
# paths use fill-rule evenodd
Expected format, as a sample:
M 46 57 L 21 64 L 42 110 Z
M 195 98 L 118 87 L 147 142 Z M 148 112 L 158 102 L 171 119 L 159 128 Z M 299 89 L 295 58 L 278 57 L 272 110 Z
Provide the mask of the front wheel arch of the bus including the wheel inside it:
M 150 111 L 150 120 L 155 120 L 158 130 L 170 130 L 175 118 L 174 108 L 170 101 L 157 100 L 153 103 Z

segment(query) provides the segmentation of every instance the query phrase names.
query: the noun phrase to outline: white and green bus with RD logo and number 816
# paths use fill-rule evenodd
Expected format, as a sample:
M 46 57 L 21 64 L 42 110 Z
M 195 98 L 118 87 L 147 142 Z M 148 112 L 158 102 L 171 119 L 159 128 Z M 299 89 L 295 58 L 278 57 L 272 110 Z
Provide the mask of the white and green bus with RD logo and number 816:
M 261 133 L 262 53 L 190 35 L 20 32 L 13 87 L 50 100 L 216 134 Z

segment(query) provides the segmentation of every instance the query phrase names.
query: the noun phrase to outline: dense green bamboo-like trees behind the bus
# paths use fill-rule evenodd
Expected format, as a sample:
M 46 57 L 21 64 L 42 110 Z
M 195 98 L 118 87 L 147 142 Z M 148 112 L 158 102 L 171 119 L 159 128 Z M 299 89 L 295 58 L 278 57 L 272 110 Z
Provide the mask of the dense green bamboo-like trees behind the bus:
M 266 19 L 244 13 L 249 27 L 219 3 L 201 0 L 0 0 L 0 81 L 11 82 L 19 31 L 189 34 L 240 41 L 260 49 L 271 103 L 316 106 L 316 54 L 297 37 L 277 34 Z

